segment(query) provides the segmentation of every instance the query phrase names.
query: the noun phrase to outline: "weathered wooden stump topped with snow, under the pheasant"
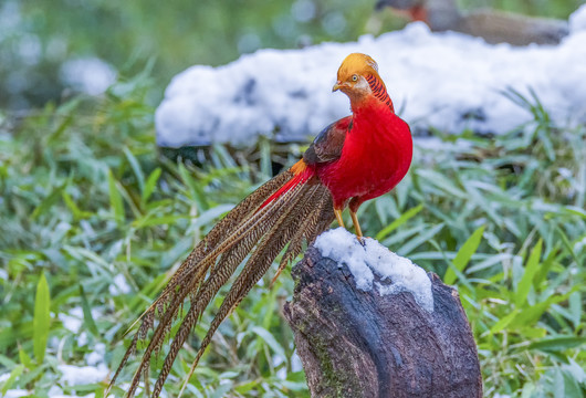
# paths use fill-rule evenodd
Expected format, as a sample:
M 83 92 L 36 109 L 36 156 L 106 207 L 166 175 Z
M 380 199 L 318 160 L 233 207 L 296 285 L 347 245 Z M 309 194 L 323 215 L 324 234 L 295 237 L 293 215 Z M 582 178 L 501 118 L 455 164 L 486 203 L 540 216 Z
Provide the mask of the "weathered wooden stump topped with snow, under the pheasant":
M 482 397 L 456 290 L 373 239 L 327 231 L 284 308 L 313 398 Z

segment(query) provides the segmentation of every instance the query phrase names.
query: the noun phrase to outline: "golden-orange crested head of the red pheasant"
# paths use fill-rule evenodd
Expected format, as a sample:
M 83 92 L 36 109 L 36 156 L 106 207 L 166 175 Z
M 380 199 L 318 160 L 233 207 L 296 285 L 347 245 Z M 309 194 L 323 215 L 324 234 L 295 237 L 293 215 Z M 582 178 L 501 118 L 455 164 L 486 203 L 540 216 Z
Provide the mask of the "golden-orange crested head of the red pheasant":
M 369 55 L 353 53 L 346 56 L 337 71 L 337 82 L 332 91 L 339 90 L 346 94 L 350 101 L 356 102 L 373 94 L 368 80 L 376 77 L 376 81 L 386 90 L 385 83 L 378 75 L 378 65 Z

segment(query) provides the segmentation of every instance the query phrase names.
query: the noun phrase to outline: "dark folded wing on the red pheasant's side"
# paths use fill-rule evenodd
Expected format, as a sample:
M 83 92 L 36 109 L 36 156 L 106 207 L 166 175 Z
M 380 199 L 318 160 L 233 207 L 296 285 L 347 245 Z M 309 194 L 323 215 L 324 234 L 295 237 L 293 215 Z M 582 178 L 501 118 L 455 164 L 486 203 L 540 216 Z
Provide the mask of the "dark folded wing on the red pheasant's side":
M 332 123 L 315 137 L 303 160 L 307 165 L 329 163 L 339 159 L 346 134 L 352 129 L 352 116 Z

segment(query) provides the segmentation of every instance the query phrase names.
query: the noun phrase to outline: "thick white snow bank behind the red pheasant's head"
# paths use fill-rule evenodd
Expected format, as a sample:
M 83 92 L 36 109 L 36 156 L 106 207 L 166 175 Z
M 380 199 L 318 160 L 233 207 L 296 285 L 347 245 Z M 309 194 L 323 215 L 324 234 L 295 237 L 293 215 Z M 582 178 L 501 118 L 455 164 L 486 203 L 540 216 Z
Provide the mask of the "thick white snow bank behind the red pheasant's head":
M 486 44 L 422 23 L 353 43 L 303 50 L 260 50 L 220 67 L 196 65 L 174 77 L 156 113 L 165 147 L 253 143 L 259 135 L 306 140 L 348 114 L 332 93 L 336 71 L 352 52 L 379 64 L 396 109 L 414 130 L 429 127 L 503 133 L 531 121 L 502 92 L 533 88 L 558 124 L 586 121 L 586 6 L 571 17 L 559 45 Z M 529 96 L 529 95 L 527 95 Z

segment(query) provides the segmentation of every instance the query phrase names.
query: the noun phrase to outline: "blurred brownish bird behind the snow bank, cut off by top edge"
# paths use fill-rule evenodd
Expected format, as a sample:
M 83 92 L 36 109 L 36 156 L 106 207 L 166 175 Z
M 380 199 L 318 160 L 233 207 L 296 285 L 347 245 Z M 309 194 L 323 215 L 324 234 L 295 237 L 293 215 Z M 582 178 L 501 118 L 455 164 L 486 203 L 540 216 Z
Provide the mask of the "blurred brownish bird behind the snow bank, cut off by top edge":
M 454 0 L 379 0 L 411 21 L 422 21 L 433 32 L 454 31 L 483 38 L 488 43 L 513 45 L 557 44 L 569 32 L 566 21 L 480 9 L 461 12 Z

